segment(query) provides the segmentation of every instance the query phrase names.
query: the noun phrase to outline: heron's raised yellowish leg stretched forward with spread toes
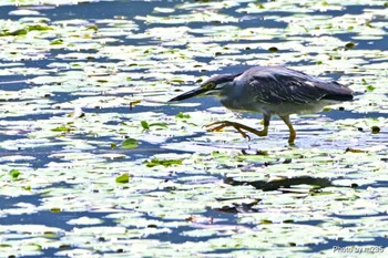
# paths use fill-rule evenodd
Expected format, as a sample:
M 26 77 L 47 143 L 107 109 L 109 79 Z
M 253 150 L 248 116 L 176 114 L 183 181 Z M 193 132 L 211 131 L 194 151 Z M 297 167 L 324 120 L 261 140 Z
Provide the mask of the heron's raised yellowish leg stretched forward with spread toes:
M 206 127 L 211 127 L 211 126 L 216 125 L 213 128 L 207 128 L 208 132 L 215 132 L 215 131 L 221 131 L 224 127 L 232 126 L 235 130 L 237 130 L 237 132 L 241 135 L 243 135 L 244 138 L 249 138 L 249 136 L 245 132 L 243 132 L 243 130 L 245 130 L 249 133 L 256 134 L 257 136 L 267 136 L 268 135 L 269 118 L 270 118 L 270 115 L 264 115 L 264 128 L 262 131 L 252 128 L 252 127 L 246 126 L 246 125 L 241 124 L 241 123 L 231 122 L 231 121 L 214 122 L 212 124 L 206 125 Z

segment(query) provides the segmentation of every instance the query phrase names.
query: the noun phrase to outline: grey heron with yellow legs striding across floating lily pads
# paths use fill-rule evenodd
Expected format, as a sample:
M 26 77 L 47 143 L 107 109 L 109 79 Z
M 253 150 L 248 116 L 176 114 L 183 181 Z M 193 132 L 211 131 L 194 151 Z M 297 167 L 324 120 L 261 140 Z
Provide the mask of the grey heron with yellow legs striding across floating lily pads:
M 169 102 L 194 96 L 215 96 L 226 109 L 236 112 L 263 113 L 261 131 L 237 122 L 219 121 L 206 125 L 208 132 L 232 126 L 245 138 L 249 138 L 246 132 L 267 136 L 270 117 L 277 115 L 288 126 L 288 144 L 294 145 L 296 131 L 290 114 L 315 113 L 327 105 L 351 101 L 354 92 L 336 81 L 286 66 L 254 66 L 242 73 L 215 75 Z

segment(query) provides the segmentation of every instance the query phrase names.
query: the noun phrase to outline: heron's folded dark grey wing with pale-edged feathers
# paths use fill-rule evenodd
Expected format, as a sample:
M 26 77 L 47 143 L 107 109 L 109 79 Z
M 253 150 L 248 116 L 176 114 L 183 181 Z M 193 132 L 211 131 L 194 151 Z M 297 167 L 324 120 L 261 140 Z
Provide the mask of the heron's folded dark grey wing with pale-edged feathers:
M 255 71 L 247 79 L 256 100 L 270 104 L 315 102 L 330 94 L 329 90 L 335 91 L 333 87 L 338 87 L 328 85 L 334 84 L 331 82 L 288 69 L 279 72 Z

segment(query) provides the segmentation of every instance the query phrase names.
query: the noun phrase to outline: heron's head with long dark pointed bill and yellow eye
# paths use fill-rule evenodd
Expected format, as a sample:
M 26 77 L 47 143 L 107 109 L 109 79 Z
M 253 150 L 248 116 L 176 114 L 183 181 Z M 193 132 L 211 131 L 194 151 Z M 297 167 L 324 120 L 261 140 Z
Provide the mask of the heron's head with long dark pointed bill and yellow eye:
M 232 75 L 232 74 L 221 74 L 221 75 L 213 76 L 207 81 L 205 81 L 204 83 L 202 83 L 200 87 L 185 92 L 178 96 L 175 96 L 171 99 L 169 102 L 183 101 L 193 96 L 205 96 L 205 95 L 218 96 L 222 94 L 222 89 L 231 84 L 235 76 L 236 75 Z

